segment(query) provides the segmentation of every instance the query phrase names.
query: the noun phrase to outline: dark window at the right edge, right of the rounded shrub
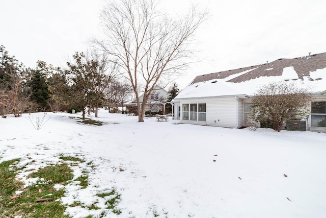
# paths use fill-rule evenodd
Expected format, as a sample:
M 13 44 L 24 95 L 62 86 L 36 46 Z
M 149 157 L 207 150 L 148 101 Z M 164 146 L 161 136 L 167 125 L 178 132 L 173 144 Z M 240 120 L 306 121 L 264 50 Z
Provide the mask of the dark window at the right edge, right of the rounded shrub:
M 326 127 L 326 102 L 311 102 L 311 126 Z

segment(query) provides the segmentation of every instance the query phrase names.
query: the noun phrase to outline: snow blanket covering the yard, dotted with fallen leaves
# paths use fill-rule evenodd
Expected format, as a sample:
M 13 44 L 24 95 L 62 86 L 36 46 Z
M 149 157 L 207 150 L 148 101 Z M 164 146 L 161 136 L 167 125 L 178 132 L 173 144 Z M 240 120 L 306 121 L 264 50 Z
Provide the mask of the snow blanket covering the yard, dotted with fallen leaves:
M 78 114 L 47 113 L 35 130 L 23 117 L 0 119 L 0 162 L 28 169 L 85 160 L 74 177 L 88 173 L 88 187 L 65 186 L 62 203 L 72 217 L 324 217 L 326 134 L 226 129 L 155 122 L 100 111 L 102 126 L 78 123 Z M 42 113 L 33 114 L 43 116 Z M 215 156 L 217 155 L 217 156 Z M 35 160 L 31 163 L 31 160 Z M 215 160 L 215 161 L 214 161 Z M 91 164 L 90 164 L 91 163 Z M 285 176 L 286 175 L 286 176 Z M 105 209 L 98 194 L 115 190 L 121 213 Z M 103 214 L 103 213 L 102 213 Z

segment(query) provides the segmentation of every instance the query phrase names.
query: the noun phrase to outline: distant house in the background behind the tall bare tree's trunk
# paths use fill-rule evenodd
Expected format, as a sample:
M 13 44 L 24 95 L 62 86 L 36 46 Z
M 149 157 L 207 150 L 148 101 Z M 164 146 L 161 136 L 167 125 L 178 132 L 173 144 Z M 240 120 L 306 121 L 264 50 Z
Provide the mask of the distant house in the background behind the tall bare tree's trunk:
M 142 104 L 144 94 L 139 95 L 139 101 Z M 145 111 L 163 111 L 164 104 L 168 98 L 168 91 L 164 88 L 161 88 L 157 85 L 154 86 L 154 90 L 151 93 L 150 98 L 147 100 L 146 110 Z M 128 102 L 126 106 L 137 106 L 137 100 L 132 100 Z

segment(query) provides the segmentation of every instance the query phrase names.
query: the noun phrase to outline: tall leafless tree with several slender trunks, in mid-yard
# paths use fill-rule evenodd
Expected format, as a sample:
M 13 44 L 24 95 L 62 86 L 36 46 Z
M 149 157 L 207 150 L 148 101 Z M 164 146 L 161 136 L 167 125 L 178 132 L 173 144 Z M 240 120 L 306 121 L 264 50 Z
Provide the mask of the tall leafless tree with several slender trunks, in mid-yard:
M 131 83 L 144 122 L 147 100 L 160 79 L 185 69 L 193 52 L 190 42 L 206 11 L 192 7 L 177 19 L 156 10 L 155 0 L 121 0 L 108 4 L 101 18 L 106 40 L 95 40 L 107 54 L 118 59 Z M 139 88 L 144 93 L 140 102 Z

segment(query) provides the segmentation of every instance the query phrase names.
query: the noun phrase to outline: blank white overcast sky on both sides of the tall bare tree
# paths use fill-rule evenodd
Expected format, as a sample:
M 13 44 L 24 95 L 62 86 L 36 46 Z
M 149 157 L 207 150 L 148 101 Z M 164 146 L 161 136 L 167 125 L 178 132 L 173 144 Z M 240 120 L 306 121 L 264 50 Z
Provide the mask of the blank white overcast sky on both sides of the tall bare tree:
M 246 67 L 279 58 L 326 52 L 325 0 L 201 0 L 209 19 L 197 32 L 200 63 L 176 82 L 183 88 L 197 75 Z M 86 51 L 99 35 L 104 0 L 0 1 L 0 44 L 25 66 L 37 60 L 55 66 Z M 191 1 L 164 0 L 171 13 Z

